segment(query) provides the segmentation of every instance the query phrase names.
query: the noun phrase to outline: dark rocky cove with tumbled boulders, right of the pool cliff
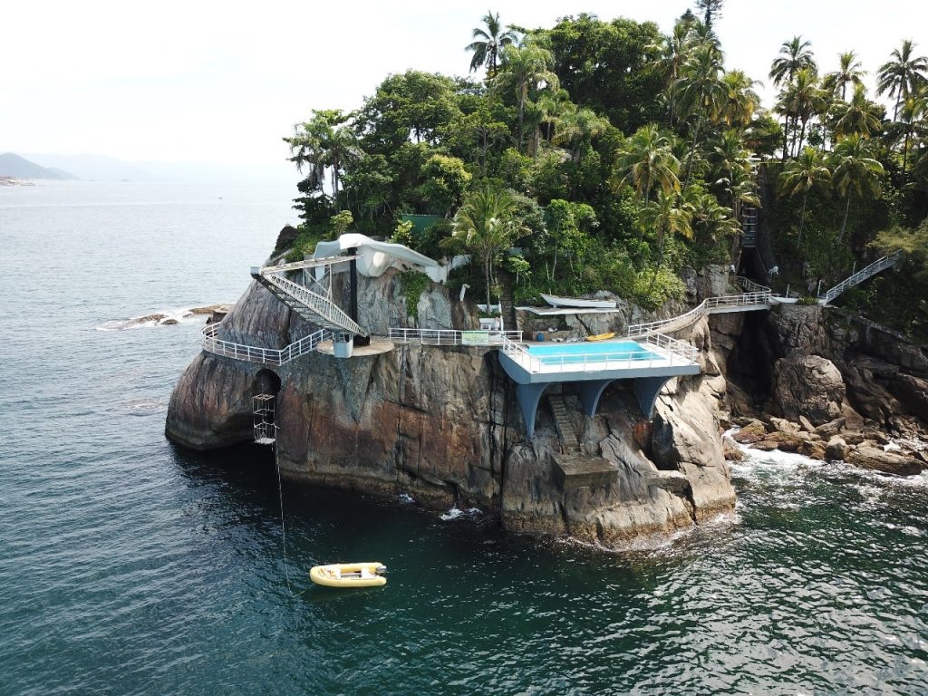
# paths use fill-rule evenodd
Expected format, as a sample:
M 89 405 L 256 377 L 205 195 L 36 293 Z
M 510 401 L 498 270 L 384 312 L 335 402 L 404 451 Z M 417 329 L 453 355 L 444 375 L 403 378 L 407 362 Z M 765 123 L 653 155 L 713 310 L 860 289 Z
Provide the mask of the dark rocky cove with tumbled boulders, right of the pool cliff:
M 740 342 L 728 386 L 747 417 L 741 443 L 898 475 L 928 468 L 924 347 L 817 305 L 775 308 Z

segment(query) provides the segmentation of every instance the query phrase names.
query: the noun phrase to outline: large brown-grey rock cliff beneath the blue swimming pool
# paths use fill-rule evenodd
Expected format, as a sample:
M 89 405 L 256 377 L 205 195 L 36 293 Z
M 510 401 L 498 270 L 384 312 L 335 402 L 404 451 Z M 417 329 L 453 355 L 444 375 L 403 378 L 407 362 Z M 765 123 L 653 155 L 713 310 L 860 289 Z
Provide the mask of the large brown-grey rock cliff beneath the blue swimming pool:
M 393 272 L 364 279 L 359 305 L 375 334 L 409 321 Z M 470 328 L 477 321 L 467 305 L 432 285 L 419 299 L 419 323 Z M 257 284 L 223 327 L 220 338 L 271 348 L 312 329 Z M 513 384 L 489 348 L 397 344 L 348 360 L 307 354 L 273 369 L 202 353 L 174 390 L 166 432 L 200 449 L 247 442 L 252 395 L 279 385 L 284 475 L 383 496 L 406 493 L 433 508 L 478 506 L 512 530 L 612 548 L 733 508 L 719 437 L 726 392 L 719 366 L 730 338 L 705 320 L 688 337 L 702 349 L 705 371 L 668 384 L 652 423 L 623 382 L 607 389 L 594 418 L 581 413 L 571 385 L 549 388 L 568 406 L 579 456 L 605 459 L 614 469 L 595 485 L 572 486 L 559 474 L 561 439 L 544 401 L 535 437 L 526 437 Z

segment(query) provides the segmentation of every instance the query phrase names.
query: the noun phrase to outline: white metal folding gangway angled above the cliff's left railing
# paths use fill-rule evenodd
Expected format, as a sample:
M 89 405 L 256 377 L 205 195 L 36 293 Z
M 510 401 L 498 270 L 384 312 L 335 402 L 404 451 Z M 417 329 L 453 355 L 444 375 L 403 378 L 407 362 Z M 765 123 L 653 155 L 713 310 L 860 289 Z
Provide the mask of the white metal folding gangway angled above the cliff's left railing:
M 367 331 L 358 326 L 357 322 L 348 316 L 341 307 L 331 299 L 331 266 L 343 264 L 356 259 L 357 256 L 328 256 L 322 259 L 298 261 L 294 264 L 251 268 L 251 277 L 270 290 L 280 302 L 290 309 L 323 329 L 333 331 L 347 331 L 355 336 L 367 336 Z M 283 277 L 288 271 L 305 270 L 307 268 L 324 268 L 329 271 L 329 290 L 321 294 L 294 283 Z

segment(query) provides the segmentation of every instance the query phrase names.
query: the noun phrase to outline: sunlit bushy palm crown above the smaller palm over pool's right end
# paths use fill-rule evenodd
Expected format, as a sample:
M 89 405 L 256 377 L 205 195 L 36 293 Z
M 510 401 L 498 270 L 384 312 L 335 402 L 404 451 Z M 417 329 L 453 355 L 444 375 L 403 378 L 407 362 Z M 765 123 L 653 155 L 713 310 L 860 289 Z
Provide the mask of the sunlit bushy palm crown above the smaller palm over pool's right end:
M 638 128 L 635 135 L 625 141 L 618 155 L 612 187 L 626 185 L 635 189 L 645 206 L 651 199 L 651 190 L 657 186 L 665 196 L 679 192 L 680 161 L 671 151 L 670 139 L 662 134 L 656 123 Z

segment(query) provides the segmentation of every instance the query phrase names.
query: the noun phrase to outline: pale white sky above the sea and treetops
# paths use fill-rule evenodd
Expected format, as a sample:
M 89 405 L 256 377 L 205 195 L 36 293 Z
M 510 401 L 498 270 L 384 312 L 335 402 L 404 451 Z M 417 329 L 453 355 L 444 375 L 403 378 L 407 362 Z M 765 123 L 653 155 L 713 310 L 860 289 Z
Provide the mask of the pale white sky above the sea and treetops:
M 668 32 L 690 0 L 496 0 L 504 23 L 570 14 L 651 20 Z M 8 3 L 0 25 L 0 152 L 245 165 L 292 175 L 295 122 L 350 110 L 388 73 L 466 74 L 464 46 L 488 7 L 403 2 Z M 769 82 L 780 45 L 812 42 L 820 70 L 854 49 L 872 75 L 909 38 L 928 53 L 928 3 L 726 0 L 716 31 L 728 69 Z M 759 90 L 772 103 L 769 85 Z

